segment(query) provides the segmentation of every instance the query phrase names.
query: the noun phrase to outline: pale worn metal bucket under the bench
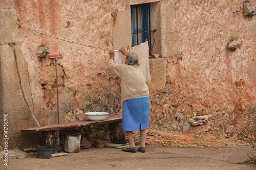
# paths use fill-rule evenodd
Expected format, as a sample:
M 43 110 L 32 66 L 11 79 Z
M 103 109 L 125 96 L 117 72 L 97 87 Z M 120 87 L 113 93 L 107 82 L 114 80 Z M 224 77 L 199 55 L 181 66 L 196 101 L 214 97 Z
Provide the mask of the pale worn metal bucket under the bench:
M 78 153 L 80 151 L 81 133 L 68 134 L 64 144 L 64 151 Z

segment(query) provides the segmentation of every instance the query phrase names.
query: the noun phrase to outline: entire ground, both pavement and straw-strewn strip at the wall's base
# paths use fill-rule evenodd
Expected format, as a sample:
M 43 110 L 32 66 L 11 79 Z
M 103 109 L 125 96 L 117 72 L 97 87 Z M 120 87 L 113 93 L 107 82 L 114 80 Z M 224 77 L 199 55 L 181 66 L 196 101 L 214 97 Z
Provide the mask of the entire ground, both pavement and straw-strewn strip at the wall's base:
M 137 144 L 138 136 L 135 133 Z M 237 137 L 190 137 L 151 130 L 147 132 L 147 143 L 146 153 L 126 153 L 109 147 L 83 149 L 50 159 L 38 159 L 30 153 L 25 159 L 9 159 L 8 166 L 1 161 L 0 169 L 256 169 L 255 164 L 237 164 L 247 160 L 247 154 L 255 155 Z

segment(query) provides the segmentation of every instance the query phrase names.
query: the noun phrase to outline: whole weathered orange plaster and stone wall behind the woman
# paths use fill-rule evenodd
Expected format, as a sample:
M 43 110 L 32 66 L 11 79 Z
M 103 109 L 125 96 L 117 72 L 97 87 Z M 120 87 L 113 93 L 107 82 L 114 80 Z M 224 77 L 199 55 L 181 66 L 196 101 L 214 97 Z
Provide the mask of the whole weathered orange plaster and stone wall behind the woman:
M 228 135 L 242 126 L 243 114 L 256 112 L 256 19 L 244 16 L 242 1 L 6 0 L 0 4 L 0 111 L 9 115 L 10 147 L 36 142 L 19 131 L 36 125 L 19 88 L 13 49 L 41 126 L 57 123 L 49 52 L 63 54 L 57 65 L 61 123 L 83 119 L 88 111 L 121 112 L 108 49 L 131 45 L 130 5 L 141 3 L 152 3 L 152 53 L 160 55 L 150 60 L 150 127 Z M 226 49 L 230 39 L 239 42 L 237 50 Z

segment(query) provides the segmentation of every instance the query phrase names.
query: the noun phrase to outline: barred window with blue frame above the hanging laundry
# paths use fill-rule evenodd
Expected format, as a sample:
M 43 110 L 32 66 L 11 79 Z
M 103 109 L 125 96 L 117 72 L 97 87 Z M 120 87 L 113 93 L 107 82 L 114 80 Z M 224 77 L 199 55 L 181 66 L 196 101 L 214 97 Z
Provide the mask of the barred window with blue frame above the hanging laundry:
M 132 45 L 136 46 L 148 40 L 148 9 L 150 4 L 131 6 Z

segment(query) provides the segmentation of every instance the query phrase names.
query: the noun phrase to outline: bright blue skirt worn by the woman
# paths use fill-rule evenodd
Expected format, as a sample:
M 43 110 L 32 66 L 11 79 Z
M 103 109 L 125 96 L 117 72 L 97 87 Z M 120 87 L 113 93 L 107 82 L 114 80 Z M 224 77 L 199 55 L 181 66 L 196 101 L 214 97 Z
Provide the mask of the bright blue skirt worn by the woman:
M 150 113 L 150 99 L 136 98 L 123 102 L 122 129 L 137 131 L 147 128 Z

